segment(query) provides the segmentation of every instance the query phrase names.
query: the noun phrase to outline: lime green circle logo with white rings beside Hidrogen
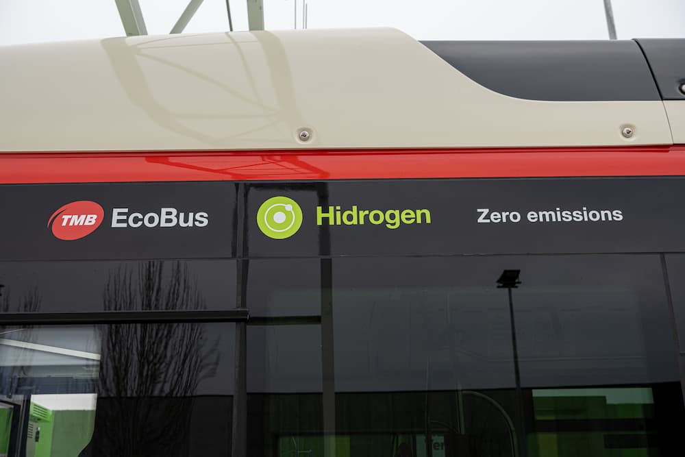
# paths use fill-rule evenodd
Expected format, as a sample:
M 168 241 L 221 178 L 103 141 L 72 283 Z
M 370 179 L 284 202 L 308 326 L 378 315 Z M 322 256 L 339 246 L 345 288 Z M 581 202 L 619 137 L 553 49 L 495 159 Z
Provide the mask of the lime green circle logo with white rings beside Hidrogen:
M 282 240 L 297 233 L 302 225 L 302 210 L 288 197 L 271 197 L 257 212 L 257 225 L 269 238 Z

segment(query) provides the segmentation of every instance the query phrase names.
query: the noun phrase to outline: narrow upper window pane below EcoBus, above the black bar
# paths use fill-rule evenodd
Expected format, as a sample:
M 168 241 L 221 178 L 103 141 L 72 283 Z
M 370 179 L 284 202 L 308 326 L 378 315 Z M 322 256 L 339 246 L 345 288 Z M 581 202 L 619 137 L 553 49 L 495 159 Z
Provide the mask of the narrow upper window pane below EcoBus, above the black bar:
M 235 307 L 234 260 L 0 263 L 0 310 L 225 310 Z

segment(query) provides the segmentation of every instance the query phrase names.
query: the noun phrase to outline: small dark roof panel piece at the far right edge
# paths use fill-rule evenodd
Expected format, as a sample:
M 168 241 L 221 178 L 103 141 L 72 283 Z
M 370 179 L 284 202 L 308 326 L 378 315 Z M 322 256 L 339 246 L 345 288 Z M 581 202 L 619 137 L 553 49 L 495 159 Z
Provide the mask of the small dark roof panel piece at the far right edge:
M 680 91 L 685 84 L 685 38 L 636 40 L 643 49 L 647 62 L 664 100 L 685 100 Z

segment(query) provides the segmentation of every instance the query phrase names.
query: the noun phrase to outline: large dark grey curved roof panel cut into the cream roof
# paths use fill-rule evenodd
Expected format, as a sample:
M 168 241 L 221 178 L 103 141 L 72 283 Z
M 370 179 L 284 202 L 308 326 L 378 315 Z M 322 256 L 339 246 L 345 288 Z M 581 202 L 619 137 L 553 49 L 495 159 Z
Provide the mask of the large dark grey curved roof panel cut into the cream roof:
M 423 45 L 478 84 L 511 97 L 661 99 L 645 57 L 633 41 L 424 41 Z

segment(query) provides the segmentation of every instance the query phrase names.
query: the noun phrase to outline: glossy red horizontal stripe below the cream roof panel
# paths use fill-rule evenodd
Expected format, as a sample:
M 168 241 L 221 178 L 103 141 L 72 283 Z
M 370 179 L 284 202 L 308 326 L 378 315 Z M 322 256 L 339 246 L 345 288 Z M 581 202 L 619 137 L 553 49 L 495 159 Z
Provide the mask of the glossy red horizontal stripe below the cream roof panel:
M 0 184 L 685 175 L 685 146 L 0 153 Z

